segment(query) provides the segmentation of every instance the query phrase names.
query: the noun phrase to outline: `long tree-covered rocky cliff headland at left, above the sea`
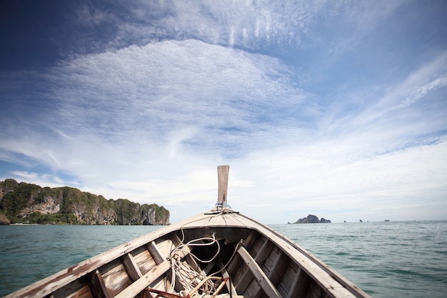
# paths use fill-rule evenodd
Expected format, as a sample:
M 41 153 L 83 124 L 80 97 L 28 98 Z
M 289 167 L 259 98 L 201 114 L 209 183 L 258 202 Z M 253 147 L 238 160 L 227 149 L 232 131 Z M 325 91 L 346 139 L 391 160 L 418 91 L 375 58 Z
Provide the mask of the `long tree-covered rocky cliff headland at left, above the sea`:
M 73 187 L 0 181 L 0 224 L 169 224 L 169 210 Z

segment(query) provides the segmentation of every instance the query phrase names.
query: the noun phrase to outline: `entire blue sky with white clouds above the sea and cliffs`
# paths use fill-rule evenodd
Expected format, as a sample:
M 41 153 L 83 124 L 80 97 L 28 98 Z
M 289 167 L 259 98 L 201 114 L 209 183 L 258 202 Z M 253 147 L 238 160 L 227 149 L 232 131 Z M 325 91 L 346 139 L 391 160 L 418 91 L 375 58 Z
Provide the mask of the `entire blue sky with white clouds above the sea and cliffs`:
M 447 219 L 446 1 L 1 1 L 0 180 L 267 224 Z

